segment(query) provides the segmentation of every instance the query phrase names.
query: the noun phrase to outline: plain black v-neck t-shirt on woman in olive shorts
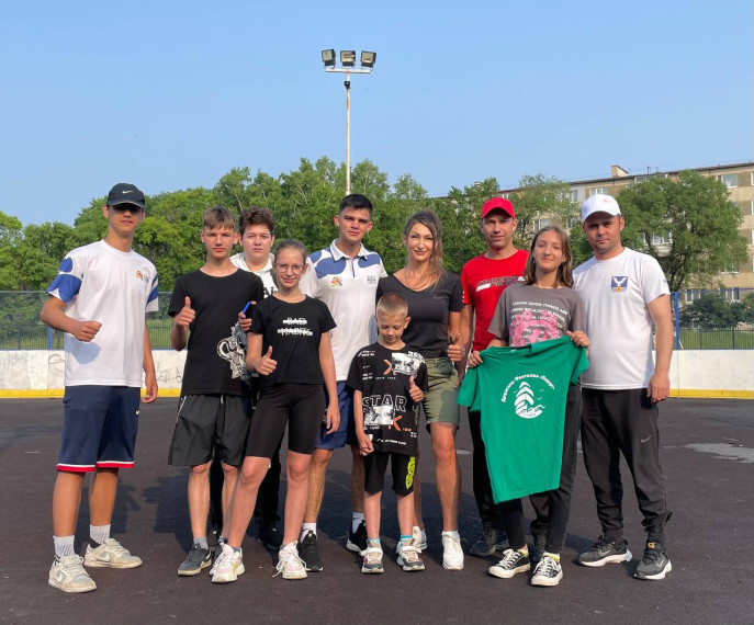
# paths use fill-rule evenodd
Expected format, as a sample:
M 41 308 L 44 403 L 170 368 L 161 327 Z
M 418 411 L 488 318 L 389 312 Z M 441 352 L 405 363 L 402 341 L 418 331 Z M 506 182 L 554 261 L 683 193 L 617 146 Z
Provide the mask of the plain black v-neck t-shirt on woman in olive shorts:
M 403 342 L 414 348 L 426 359 L 448 354 L 448 314 L 463 309 L 461 280 L 454 273 L 442 272 L 435 286 L 413 291 L 395 275 L 380 279 L 376 299 L 386 293 L 397 293 L 408 302 L 408 322 Z

